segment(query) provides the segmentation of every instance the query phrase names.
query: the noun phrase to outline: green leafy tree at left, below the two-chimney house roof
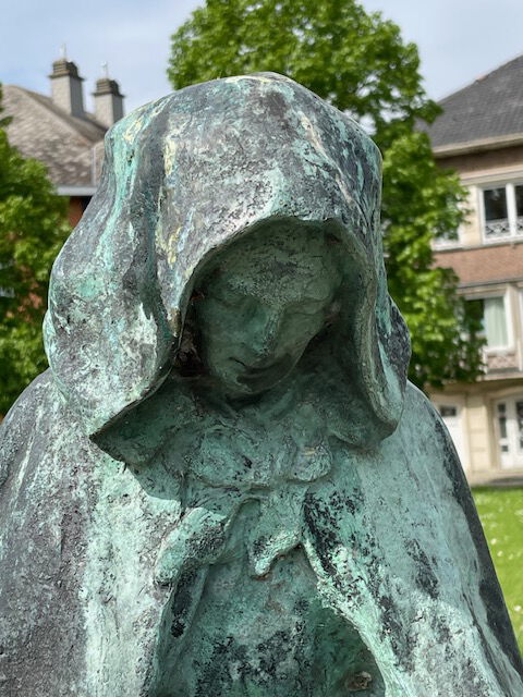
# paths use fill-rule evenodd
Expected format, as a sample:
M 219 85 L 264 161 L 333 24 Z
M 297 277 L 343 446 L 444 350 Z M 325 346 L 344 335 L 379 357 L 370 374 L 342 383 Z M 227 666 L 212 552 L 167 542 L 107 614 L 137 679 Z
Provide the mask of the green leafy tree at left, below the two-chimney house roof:
M 0 119 L 0 414 L 47 367 L 49 272 L 69 233 L 65 199 L 40 162 L 9 144 L 8 123 Z

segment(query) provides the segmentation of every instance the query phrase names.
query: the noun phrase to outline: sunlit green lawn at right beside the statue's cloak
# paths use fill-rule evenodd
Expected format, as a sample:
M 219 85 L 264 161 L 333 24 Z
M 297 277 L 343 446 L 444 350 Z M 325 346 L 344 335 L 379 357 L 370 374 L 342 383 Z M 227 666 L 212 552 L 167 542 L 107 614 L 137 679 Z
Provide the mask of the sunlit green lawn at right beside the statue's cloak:
M 523 488 L 477 488 L 472 493 L 523 652 Z

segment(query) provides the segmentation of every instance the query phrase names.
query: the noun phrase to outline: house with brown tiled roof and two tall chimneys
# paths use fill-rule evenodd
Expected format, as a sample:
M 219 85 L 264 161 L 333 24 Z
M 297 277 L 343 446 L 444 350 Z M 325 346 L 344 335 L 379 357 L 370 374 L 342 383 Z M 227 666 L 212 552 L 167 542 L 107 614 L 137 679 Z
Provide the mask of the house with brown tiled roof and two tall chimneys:
M 3 115 L 12 117 L 8 137 L 25 157 L 44 162 L 75 225 L 96 191 L 104 158 L 104 136 L 123 115 L 123 95 L 108 76 L 96 83 L 94 113 L 84 108 L 83 85 L 75 63 L 53 62 L 51 96 L 3 85 Z

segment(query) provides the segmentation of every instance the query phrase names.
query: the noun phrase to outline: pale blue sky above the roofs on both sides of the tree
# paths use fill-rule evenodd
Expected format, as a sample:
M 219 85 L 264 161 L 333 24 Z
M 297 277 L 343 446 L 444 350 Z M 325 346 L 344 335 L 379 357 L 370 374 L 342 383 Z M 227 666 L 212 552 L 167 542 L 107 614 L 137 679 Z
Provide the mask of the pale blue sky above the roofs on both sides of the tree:
M 171 90 L 170 36 L 197 0 L 0 0 L 0 82 L 50 94 L 62 45 L 86 78 L 86 108 L 102 76 L 120 83 L 131 111 Z M 363 0 L 418 45 L 430 97 L 460 89 L 523 53 L 523 0 Z

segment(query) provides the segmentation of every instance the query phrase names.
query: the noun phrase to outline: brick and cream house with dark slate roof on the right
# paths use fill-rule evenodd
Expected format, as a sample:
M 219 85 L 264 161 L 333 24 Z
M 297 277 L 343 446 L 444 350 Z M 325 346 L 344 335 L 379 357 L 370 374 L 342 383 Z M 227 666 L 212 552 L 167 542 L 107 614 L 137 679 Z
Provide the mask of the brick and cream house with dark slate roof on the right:
M 523 474 L 523 56 L 440 102 L 435 157 L 469 192 L 455 241 L 437 243 L 483 317 L 486 374 L 430 394 L 469 479 Z

